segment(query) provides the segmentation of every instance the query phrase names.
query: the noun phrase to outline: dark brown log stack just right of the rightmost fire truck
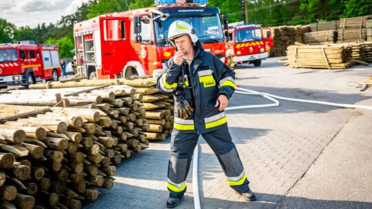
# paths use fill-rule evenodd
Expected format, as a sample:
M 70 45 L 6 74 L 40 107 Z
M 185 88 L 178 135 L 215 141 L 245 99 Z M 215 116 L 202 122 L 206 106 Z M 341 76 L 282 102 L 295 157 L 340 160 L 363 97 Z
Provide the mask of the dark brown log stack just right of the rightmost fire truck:
M 303 34 L 310 31 L 309 26 L 280 26 L 273 30 L 273 47 L 270 56 L 285 56 L 287 47 L 295 42 L 304 43 Z

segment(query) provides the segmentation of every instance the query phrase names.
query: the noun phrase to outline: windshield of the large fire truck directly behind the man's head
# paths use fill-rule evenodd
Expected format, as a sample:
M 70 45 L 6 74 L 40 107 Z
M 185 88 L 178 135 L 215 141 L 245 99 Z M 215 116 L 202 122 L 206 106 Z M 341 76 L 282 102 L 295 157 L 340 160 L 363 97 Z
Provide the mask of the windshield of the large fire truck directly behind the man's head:
M 196 30 L 196 36 L 200 43 L 218 43 L 223 42 L 223 30 L 220 25 L 220 19 L 218 15 L 213 14 L 211 16 L 193 16 L 193 17 L 177 17 L 167 19 L 167 21 L 155 21 L 155 36 L 156 43 L 163 45 L 168 39 L 168 29 L 174 21 L 185 21 L 192 25 L 192 28 Z M 169 43 L 170 44 L 170 43 Z

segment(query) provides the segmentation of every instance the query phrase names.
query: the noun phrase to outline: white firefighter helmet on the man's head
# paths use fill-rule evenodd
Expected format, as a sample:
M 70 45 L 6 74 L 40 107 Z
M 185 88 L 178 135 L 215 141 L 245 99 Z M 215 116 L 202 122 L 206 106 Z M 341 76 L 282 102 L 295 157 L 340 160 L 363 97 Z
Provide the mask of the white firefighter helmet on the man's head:
M 196 43 L 196 41 L 198 41 L 198 37 L 196 37 L 196 32 L 192 28 L 192 25 L 184 21 L 174 21 L 169 26 L 168 41 L 176 46 L 176 44 L 174 43 L 174 39 L 177 39 L 185 34 L 188 34 L 190 36 L 194 44 Z

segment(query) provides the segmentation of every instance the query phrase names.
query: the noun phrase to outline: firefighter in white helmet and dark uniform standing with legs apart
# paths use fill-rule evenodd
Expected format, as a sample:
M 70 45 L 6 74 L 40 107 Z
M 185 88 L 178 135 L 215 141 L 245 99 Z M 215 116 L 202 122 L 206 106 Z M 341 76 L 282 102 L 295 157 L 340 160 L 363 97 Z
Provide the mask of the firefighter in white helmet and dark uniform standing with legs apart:
M 224 109 L 235 89 L 235 73 L 214 54 L 205 52 L 196 32 L 184 21 L 169 26 L 169 42 L 176 47 L 158 77 L 157 88 L 175 98 L 167 188 L 167 208 L 174 208 L 186 192 L 186 178 L 201 134 L 216 154 L 227 184 L 247 201 L 256 197 L 227 127 Z

